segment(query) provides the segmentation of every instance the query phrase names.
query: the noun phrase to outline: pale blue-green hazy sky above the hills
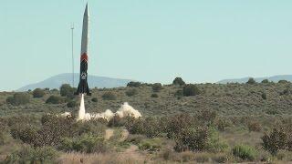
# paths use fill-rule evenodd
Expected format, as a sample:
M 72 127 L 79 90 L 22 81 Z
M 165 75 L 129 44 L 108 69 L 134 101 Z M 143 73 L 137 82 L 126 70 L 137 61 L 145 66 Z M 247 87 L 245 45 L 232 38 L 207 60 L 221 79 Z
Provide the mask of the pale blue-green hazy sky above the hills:
M 82 0 L 0 2 L 0 90 L 79 69 Z M 189 83 L 292 74 L 291 0 L 89 0 L 89 74 Z

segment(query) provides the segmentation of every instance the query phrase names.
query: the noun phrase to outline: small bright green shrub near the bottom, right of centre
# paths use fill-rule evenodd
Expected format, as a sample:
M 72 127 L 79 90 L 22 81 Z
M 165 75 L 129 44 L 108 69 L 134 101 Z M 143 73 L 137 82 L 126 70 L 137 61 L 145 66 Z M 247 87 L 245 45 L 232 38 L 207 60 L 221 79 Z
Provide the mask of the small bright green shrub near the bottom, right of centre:
M 257 151 L 255 148 L 248 145 L 236 145 L 234 149 L 232 149 L 232 153 L 235 157 L 253 161 L 257 156 Z

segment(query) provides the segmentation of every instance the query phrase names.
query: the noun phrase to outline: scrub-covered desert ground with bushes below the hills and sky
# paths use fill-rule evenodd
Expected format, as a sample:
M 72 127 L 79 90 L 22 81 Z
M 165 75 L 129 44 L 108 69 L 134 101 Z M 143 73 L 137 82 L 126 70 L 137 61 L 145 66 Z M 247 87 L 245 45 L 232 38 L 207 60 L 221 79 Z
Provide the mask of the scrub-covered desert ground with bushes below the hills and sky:
M 142 118 L 76 121 L 74 88 L 0 93 L 0 163 L 292 162 L 292 84 L 95 88 L 89 112 L 123 102 Z M 59 91 L 60 90 L 60 91 Z M 62 117 L 60 114 L 73 115 Z

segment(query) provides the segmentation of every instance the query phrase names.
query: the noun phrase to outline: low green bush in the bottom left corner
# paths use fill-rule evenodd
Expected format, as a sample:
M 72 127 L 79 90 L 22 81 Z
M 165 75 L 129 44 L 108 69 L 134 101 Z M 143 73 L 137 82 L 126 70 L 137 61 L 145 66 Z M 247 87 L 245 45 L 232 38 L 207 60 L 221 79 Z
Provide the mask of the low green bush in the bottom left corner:
M 50 147 L 32 148 L 23 146 L 8 155 L 3 163 L 56 163 L 58 152 Z

